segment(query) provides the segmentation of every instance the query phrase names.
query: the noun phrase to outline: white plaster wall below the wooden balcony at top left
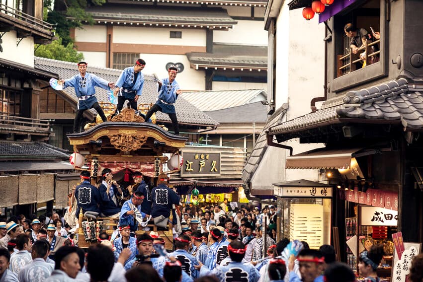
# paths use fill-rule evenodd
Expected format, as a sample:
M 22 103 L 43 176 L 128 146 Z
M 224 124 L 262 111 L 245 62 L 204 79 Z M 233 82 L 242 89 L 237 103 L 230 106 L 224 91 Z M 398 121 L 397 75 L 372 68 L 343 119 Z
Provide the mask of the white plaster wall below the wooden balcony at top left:
M 16 32 L 6 32 L 1 38 L 3 43 L 3 52 L 0 52 L 0 58 L 15 63 L 34 67 L 34 38 L 26 37 L 16 46 Z

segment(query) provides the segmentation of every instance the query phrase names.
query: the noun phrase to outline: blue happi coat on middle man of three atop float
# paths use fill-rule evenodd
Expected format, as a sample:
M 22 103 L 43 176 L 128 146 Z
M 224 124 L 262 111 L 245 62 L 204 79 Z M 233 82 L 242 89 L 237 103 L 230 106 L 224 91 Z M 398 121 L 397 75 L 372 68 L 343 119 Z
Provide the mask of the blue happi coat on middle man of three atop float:
M 136 77 L 135 81 L 134 78 Z M 134 99 L 135 95 L 141 96 L 144 87 L 144 74 L 140 71 L 136 75 L 134 67 L 128 67 L 122 71 L 115 85 L 121 89 L 120 96 Z

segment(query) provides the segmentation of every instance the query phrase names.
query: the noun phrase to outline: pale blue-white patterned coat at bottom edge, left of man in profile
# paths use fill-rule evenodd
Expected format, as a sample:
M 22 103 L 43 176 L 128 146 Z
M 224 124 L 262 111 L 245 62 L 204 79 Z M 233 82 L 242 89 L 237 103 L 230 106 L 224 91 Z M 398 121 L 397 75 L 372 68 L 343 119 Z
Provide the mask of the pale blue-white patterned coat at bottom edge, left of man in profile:
M 44 282 L 53 270 L 54 265 L 46 263 L 42 258 L 36 258 L 20 270 L 18 278 L 20 282 Z

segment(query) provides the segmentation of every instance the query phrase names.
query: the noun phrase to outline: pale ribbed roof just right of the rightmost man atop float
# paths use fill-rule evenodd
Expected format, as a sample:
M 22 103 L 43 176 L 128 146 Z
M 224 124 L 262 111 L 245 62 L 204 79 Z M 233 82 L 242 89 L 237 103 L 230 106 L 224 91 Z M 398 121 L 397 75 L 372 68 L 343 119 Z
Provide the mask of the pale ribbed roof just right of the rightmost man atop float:
M 260 96 L 261 97 L 257 97 Z M 202 111 L 216 111 L 251 103 L 252 100 L 265 100 L 264 89 L 248 90 L 208 90 L 184 92 L 183 98 Z

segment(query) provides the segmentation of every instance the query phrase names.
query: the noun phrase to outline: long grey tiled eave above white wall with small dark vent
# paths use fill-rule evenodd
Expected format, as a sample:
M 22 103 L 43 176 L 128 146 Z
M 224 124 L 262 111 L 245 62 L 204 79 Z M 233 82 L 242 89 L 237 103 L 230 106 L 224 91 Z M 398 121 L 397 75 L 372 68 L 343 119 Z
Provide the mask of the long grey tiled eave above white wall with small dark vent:
M 101 6 L 92 6 L 86 9 L 95 21 L 124 21 L 129 23 L 148 23 L 159 25 L 204 25 L 231 27 L 237 24 L 228 12 L 222 8 L 197 7 L 166 7 L 141 6 L 133 4 L 107 3 Z

